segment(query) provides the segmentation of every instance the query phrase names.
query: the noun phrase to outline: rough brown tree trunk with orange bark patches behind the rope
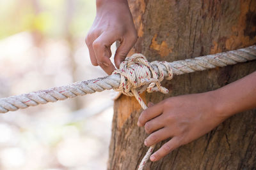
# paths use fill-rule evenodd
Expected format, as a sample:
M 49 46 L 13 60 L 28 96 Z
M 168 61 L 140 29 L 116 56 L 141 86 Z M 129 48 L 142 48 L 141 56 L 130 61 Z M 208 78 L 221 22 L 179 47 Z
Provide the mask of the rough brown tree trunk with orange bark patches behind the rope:
M 150 61 L 189 59 L 256 43 L 255 0 L 130 0 L 129 5 L 139 36 L 131 53 L 143 53 Z M 207 92 L 255 70 L 253 61 L 175 76 L 163 83 L 170 94 L 142 97 L 158 103 Z M 122 96 L 115 102 L 108 169 L 136 169 L 147 152 L 147 134 L 136 125 L 141 111 L 134 97 Z M 148 162 L 145 169 L 256 169 L 255 129 L 256 110 L 239 113 L 159 162 Z

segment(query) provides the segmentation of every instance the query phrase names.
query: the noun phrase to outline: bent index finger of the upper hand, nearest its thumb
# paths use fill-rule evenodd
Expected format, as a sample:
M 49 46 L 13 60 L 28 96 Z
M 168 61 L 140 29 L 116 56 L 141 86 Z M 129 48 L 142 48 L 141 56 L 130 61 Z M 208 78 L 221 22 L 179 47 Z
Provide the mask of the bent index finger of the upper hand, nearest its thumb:
M 106 32 L 102 33 L 97 39 L 95 39 L 95 41 L 93 41 L 93 51 L 97 62 L 107 74 L 111 74 L 115 70 L 115 66 L 109 59 L 111 57 L 110 46 L 115 41 L 116 40 L 113 39 L 113 36 L 109 36 Z

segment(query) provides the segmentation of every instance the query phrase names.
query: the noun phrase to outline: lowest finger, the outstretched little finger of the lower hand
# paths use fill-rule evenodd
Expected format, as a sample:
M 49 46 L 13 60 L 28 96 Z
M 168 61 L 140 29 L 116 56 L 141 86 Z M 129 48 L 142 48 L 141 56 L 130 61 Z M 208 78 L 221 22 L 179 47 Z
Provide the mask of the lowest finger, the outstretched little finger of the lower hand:
M 167 143 L 164 143 L 164 145 L 157 150 L 153 155 L 151 155 L 150 160 L 151 161 L 157 161 L 161 158 L 163 158 L 168 153 L 172 152 L 175 148 L 178 148 L 180 146 L 180 140 L 178 137 L 174 137 L 170 139 Z

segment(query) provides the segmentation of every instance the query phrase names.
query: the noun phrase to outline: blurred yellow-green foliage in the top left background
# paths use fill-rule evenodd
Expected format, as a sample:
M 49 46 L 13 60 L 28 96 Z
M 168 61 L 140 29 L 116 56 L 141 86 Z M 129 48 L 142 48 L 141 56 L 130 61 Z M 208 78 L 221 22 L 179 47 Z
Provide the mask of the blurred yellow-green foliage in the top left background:
M 1 0 L 0 38 L 22 31 L 55 38 L 85 36 L 94 15 L 92 0 Z

